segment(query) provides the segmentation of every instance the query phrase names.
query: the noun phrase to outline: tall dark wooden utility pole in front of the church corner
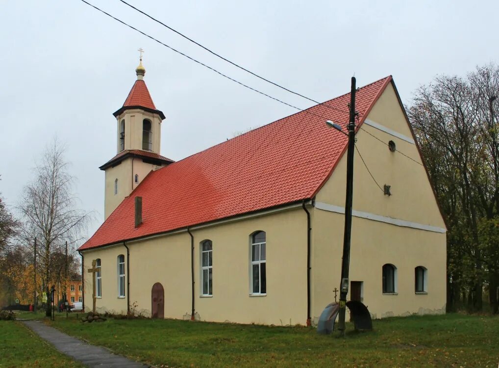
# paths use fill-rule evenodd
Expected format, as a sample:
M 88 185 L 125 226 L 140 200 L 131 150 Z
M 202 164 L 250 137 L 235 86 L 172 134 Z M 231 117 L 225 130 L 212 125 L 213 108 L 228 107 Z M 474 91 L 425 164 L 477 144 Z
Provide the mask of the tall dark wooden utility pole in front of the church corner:
M 346 161 L 345 232 L 343 235 L 343 257 L 341 259 L 340 308 L 338 330 L 345 336 L 346 295 L 348 294 L 348 272 L 350 267 L 350 235 L 352 232 L 353 153 L 355 149 L 355 77 L 350 89 L 350 117 L 348 120 L 348 150 Z

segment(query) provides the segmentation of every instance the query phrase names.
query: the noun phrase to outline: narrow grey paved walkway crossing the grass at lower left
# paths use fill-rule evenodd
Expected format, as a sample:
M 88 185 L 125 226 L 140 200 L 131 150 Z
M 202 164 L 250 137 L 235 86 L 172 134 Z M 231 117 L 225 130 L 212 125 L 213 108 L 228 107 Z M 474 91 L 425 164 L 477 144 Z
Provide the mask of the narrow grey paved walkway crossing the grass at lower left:
M 120 355 L 112 354 L 109 350 L 89 345 L 81 340 L 63 334 L 59 330 L 49 327 L 39 321 L 21 321 L 42 339 L 52 344 L 59 352 L 70 356 L 88 367 L 114 368 L 145 368 L 141 363 L 131 361 Z

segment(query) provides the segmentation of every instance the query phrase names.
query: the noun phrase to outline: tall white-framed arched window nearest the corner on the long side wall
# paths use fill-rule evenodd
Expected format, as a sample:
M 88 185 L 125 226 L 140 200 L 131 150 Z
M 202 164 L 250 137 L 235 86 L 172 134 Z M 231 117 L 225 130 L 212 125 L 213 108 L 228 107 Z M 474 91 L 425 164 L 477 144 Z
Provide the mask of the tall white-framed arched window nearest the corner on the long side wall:
M 267 293 L 266 272 L 266 237 L 264 231 L 257 231 L 251 236 L 250 280 L 251 294 Z

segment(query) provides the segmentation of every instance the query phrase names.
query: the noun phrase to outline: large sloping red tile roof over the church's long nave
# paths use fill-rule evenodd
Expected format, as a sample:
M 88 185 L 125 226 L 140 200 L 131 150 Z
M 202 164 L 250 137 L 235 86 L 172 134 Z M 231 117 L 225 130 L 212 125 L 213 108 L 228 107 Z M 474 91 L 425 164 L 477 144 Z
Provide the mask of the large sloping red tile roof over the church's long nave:
M 360 88 L 360 124 L 391 76 Z M 151 172 L 79 249 L 186 228 L 311 199 L 331 175 L 347 137 L 324 121 L 348 121 L 350 94 L 326 101 Z M 316 116 L 319 115 L 319 116 Z M 143 223 L 134 229 L 134 197 Z

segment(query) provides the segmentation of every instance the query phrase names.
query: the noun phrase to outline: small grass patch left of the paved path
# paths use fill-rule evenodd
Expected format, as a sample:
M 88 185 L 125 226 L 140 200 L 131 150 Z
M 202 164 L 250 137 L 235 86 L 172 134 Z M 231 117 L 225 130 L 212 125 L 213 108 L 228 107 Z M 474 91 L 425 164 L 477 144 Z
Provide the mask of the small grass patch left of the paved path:
M 0 367 L 83 367 L 20 322 L 0 321 Z

